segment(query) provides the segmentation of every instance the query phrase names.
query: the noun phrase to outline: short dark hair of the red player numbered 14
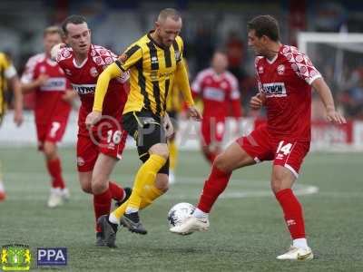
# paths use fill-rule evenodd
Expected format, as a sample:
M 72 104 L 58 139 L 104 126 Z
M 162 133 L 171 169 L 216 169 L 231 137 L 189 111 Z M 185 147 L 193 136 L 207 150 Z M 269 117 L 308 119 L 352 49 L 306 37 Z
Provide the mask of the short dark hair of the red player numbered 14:
M 278 21 L 271 15 L 259 15 L 247 23 L 248 30 L 254 30 L 259 38 L 268 36 L 272 41 L 280 41 L 280 30 Z

